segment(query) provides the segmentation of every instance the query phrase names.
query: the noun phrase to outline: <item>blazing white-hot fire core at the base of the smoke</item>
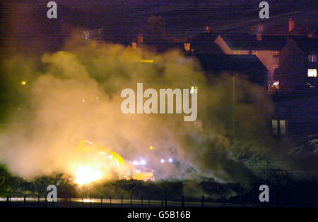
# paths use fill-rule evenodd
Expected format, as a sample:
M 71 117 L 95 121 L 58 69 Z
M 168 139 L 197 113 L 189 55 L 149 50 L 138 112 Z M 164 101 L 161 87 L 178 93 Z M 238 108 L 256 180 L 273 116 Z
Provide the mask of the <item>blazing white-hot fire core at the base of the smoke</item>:
M 94 170 L 89 166 L 78 166 L 76 170 L 75 183 L 78 183 L 78 185 L 84 185 L 86 183 L 99 180 L 100 178 L 102 178 L 102 173 L 100 171 Z

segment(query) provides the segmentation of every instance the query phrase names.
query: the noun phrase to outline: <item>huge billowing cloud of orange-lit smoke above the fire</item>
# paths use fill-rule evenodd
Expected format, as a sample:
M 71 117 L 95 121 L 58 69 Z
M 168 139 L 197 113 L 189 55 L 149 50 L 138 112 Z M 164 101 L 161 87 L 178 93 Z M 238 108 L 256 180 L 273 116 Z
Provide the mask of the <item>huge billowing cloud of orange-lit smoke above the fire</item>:
M 25 178 L 70 173 L 78 142 L 89 140 L 131 161 L 141 156 L 153 159 L 151 146 L 163 153 L 175 149 L 175 156 L 165 156 L 173 163 L 162 172 L 163 178 L 252 178 L 252 171 L 233 155 L 240 147 L 255 154 L 270 151 L 266 136 L 273 106 L 266 90 L 236 78 L 235 137 L 231 137 L 229 73 L 209 82 L 198 62 L 180 51 L 158 55 L 143 49 L 145 58 L 154 59 L 150 65 L 124 58 L 124 49 L 76 39 L 63 51 L 41 59 L 22 54 L 6 58 L 1 64 L 7 85 L 2 105 L 8 109 L 3 112 L 0 161 Z M 123 114 L 120 93 L 125 88 L 136 90 L 137 82 L 155 90 L 196 86 L 197 120 L 184 122 L 183 114 Z M 242 145 L 233 146 L 233 141 Z

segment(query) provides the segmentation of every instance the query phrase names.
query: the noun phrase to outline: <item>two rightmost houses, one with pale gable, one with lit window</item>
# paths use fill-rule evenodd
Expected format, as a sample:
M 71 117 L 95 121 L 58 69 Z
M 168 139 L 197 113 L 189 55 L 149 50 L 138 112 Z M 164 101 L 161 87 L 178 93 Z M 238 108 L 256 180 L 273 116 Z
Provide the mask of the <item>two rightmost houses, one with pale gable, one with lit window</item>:
M 317 85 L 317 37 L 204 33 L 192 42 L 200 54 L 256 56 L 266 67 L 268 90 Z

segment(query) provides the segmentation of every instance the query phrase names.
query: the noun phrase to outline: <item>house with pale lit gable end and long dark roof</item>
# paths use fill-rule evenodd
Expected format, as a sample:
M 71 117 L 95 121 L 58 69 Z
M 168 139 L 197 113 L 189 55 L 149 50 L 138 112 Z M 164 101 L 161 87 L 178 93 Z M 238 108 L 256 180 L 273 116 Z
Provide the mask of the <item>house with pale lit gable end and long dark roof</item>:
M 273 84 L 273 73 L 279 66 L 279 54 L 287 42 L 286 36 L 262 35 L 262 26 L 257 35 L 245 33 L 206 32 L 192 38 L 195 53 L 255 55 L 268 70 L 269 89 Z

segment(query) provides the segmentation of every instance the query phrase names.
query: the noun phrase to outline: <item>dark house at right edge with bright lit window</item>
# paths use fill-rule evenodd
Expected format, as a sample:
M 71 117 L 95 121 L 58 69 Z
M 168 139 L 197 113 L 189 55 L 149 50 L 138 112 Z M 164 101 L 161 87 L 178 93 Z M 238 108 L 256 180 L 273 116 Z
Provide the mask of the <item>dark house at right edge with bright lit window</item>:
M 317 38 L 289 37 L 274 75 L 276 82 L 279 82 L 279 90 L 292 91 L 306 85 L 318 87 L 317 55 Z

